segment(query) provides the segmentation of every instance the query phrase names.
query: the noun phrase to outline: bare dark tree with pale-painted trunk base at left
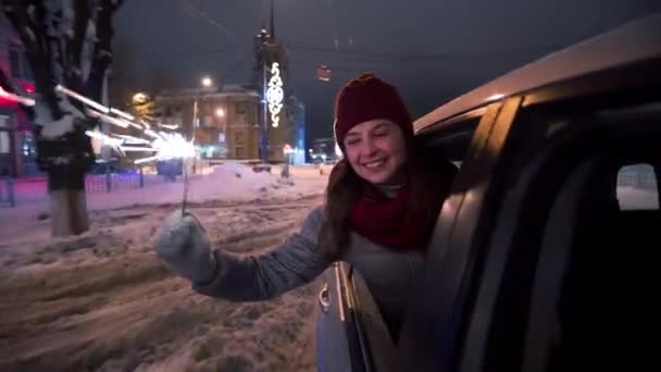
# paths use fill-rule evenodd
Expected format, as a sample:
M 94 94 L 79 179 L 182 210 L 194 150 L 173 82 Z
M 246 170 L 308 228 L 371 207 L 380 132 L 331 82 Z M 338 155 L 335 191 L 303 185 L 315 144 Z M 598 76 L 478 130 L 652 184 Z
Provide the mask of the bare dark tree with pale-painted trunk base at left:
M 89 228 L 85 173 L 95 161 L 85 131 L 98 123 L 63 85 L 101 101 L 112 62 L 112 17 L 123 0 L 4 0 L 4 14 L 35 76 L 37 163 L 48 175 L 53 236 Z

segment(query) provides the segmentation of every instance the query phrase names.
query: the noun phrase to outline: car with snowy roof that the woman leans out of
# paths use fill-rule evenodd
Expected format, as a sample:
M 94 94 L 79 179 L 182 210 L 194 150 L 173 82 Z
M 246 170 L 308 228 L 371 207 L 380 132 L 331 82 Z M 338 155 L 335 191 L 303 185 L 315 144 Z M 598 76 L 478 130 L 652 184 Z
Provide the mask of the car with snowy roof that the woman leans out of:
M 319 296 L 320 371 L 599 371 L 656 364 L 661 14 L 420 117 L 460 164 L 394 347 L 360 273 Z

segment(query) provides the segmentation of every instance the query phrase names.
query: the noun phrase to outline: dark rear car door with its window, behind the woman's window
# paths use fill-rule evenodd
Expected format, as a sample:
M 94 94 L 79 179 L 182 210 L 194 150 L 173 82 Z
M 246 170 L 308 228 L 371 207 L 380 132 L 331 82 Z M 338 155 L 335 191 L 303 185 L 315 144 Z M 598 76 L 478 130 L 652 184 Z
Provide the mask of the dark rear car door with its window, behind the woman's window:
M 656 362 L 644 339 L 654 335 L 661 103 L 636 103 L 563 117 L 527 158 L 494 226 L 457 370 Z M 634 164 L 647 171 L 632 187 L 624 176 Z

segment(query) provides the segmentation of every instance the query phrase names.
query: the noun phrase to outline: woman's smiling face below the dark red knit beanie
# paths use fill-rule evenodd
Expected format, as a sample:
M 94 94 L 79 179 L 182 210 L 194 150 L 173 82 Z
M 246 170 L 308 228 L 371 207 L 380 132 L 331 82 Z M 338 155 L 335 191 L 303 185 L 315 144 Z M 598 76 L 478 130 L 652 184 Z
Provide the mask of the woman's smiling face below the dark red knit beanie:
M 401 182 L 407 149 L 401 128 L 376 119 L 353 126 L 345 136 L 345 156 L 353 171 L 372 184 Z

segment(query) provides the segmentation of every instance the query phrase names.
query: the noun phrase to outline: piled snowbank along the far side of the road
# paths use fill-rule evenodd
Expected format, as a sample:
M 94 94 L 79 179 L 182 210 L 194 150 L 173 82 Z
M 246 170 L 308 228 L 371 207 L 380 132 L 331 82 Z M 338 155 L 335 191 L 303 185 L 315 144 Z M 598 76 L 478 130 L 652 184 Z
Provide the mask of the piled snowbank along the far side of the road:
M 309 172 L 294 168 L 290 178 L 280 178 L 279 171 L 272 174 L 254 173 L 244 164 L 228 162 L 216 166 L 207 175 L 194 175 L 189 181 L 188 201 L 192 204 L 215 202 L 236 203 L 253 200 L 290 199 L 324 191 L 327 172 Z M 237 176 L 238 174 L 238 176 Z M 0 208 L 0 247 L 47 239 L 50 232 L 48 195 L 45 182 L 16 185 L 16 208 Z M 183 177 L 176 183 L 159 183 L 145 188 L 121 191 L 87 193 L 89 210 L 108 210 L 138 206 L 177 206 L 184 197 Z

